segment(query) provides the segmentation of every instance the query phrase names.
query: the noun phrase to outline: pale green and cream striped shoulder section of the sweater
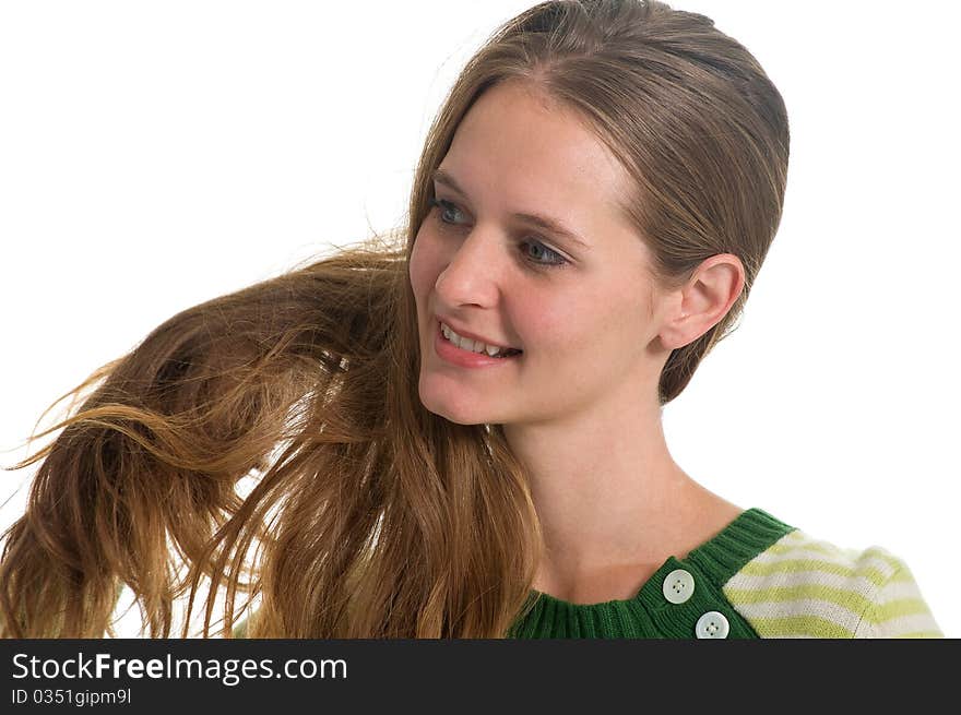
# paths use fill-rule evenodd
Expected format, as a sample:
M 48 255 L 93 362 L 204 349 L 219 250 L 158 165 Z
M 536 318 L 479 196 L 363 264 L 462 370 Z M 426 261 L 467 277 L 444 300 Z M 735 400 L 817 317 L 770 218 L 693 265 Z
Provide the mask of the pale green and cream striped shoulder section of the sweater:
M 793 529 L 723 586 L 761 637 L 944 637 L 907 564 Z

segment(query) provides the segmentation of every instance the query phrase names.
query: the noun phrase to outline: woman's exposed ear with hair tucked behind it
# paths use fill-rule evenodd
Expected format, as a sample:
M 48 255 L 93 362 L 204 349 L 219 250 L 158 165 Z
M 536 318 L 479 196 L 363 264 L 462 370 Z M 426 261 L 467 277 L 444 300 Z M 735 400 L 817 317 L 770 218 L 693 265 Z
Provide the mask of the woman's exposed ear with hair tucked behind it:
M 669 294 L 657 333 L 668 349 L 689 345 L 716 325 L 744 290 L 744 265 L 733 253 L 705 259 L 690 279 Z

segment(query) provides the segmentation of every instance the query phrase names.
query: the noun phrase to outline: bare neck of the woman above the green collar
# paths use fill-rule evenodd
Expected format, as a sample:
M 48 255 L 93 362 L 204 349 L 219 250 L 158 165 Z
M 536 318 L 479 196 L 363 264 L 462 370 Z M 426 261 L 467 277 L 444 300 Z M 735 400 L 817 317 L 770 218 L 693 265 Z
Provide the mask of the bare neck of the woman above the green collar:
M 580 583 L 630 592 L 737 511 L 674 462 L 656 404 L 624 401 L 606 414 L 503 430 L 530 473 L 541 520 L 538 591 L 571 592 Z

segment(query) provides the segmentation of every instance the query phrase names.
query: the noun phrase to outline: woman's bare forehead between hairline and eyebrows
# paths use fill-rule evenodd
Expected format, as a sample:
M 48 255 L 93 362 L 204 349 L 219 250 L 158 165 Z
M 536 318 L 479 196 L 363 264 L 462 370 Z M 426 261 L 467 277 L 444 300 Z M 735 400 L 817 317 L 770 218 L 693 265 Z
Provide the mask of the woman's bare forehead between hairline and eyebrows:
M 570 108 L 517 82 L 485 92 L 464 116 L 441 163 L 471 198 L 576 223 L 583 212 L 620 214 L 629 175 Z

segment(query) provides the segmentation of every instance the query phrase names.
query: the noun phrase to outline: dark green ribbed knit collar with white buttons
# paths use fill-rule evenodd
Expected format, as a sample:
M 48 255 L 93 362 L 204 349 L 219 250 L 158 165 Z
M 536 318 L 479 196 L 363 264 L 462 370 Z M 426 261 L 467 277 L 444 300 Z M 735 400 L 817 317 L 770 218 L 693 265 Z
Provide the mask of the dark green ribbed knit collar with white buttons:
M 532 591 L 531 610 L 514 622 L 508 637 L 692 637 L 695 623 L 708 611 L 724 613 L 731 624 L 728 637 L 758 637 L 722 588 L 748 561 L 792 531 L 768 512 L 748 509 L 683 559 L 668 557 L 632 598 L 572 604 Z M 685 603 L 672 604 L 665 598 L 664 581 L 678 569 L 693 576 L 695 589 Z

